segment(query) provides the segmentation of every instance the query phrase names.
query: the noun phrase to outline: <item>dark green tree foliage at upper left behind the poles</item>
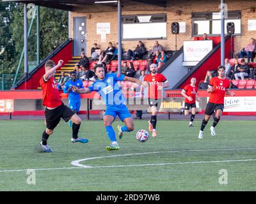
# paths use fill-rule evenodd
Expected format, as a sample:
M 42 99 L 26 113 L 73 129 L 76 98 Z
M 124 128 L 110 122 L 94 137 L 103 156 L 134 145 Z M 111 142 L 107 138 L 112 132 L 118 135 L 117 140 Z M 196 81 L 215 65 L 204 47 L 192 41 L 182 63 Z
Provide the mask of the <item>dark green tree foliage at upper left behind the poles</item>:
M 8 8 L 8 10 L 6 10 Z M 28 8 L 29 12 L 29 8 Z M 4 17 L 10 19 L 3 26 Z M 28 28 L 32 18 L 28 18 Z M 1 3 L 0 7 L 0 74 L 14 73 L 24 47 L 24 4 Z M 2 38 L 4 36 L 4 38 Z M 40 7 L 40 59 L 49 55 L 68 38 L 68 12 Z M 28 61 L 36 61 L 36 19 L 28 38 Z M 24 64 L 19 72 L 24 71 Z

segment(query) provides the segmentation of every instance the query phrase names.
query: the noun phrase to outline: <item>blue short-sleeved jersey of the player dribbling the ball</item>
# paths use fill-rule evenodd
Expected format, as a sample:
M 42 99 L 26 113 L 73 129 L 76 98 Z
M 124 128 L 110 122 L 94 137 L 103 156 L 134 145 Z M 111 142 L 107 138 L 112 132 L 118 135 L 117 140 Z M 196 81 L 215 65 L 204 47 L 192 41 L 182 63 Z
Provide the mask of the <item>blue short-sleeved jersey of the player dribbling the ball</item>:
M 109 105 L 124 105 L 126 99 L 122 94 L 118 81 L 124 80 L 124 75 L 106 74 L 103 80 L 96 80 L 88 87 L 90 91 L 97 91 L 105 102 L 106 106 Z

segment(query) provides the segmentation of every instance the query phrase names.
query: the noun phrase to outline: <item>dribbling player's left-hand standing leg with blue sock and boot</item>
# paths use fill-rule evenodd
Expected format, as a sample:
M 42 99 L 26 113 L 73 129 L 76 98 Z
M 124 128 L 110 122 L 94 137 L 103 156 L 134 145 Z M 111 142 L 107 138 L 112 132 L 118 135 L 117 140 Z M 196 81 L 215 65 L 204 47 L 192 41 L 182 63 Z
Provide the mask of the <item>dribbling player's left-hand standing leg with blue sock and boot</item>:
M 120 149 L 118 143 L 116 142 L 115 131 L 112 127 L 112 123 L 114 122 L 114 120 L 115 118 L 112 115 L 104 115 L 103 117 L 104 127 L 106 129 L 108 138 L 111 141 L 111 145 L 106 147 L 106 149 L 109 151 Z

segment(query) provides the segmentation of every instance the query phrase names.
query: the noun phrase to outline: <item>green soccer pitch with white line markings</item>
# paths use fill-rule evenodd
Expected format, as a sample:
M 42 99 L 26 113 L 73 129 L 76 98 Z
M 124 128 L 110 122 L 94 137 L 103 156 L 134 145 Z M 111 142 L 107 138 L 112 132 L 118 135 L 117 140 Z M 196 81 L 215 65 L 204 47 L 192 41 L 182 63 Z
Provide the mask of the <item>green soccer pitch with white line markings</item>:
M 211 120 L 198 139 L 201 120 L 195 128 L 184 120 L 158 120 L 157 138 L 145 143 L 135 135 L 148 130 L 147 120 L 134 123 L 118 141 L 120 150 L 108 152 L 102 120 L 83 120 L 79 136 L 89 139 L 86 144 L 72 143 L 72 129 L 61 120 L 49 138 L 52 153 L 42 153 L 43 120 L 1 120 L 0 191 L 256 190 L 254 121 L 221 120 L 212 137 Z M 35 184 L 28 182 L 28 169 L 35 170 Z

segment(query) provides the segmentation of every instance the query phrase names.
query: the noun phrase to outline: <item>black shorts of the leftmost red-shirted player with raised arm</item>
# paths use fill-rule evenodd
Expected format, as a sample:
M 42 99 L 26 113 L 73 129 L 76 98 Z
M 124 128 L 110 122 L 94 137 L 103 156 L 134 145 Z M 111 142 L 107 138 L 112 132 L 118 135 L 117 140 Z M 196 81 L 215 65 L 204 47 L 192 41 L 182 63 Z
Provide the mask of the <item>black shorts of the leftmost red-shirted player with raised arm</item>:
M 68 120 L 70 120 L 70 118 L 76 113 L 62 103 L 60 106 L 52 110 L 45 108 L 44 114 L 46 127 L 48 129 L 54 129 L 59 124 L 61 118 L 65 120 L 65 122 L 68 122 Z

